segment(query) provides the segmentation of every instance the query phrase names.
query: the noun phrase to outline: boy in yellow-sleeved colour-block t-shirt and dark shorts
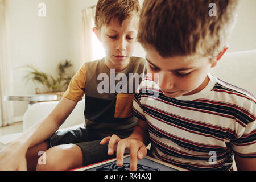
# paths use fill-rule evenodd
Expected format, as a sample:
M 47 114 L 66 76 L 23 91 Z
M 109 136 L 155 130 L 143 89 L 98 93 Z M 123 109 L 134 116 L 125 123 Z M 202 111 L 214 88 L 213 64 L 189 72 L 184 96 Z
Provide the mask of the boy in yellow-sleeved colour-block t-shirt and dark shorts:
M 93 31 L 106 57 L 82 65 L 55 109 L 3 148 L 0 170 L 69 170 L 114 157 L 100 139 L 112 133 L 127 137 L 137 122 L 131 105 L 146 61 L 131 55 L 140 11 L 138 0 L 98 1 Z M 58 132 L 84 94 L 86 128 Z M 46 152 L 39 158 L 39 151 Z

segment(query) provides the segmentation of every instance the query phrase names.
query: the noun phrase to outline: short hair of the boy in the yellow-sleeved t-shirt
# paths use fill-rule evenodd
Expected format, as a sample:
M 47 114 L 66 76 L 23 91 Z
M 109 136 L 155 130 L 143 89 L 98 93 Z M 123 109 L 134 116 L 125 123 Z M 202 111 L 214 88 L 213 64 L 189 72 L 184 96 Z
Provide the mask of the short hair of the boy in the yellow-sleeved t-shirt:
M 138 0 L 98 0 L 95 12 L 95 26 L 100 30 L 102 25 L 109 24 L 114 18 L 118 18 L 120 26 L 122 22 L 133 15 L 141 13 Z

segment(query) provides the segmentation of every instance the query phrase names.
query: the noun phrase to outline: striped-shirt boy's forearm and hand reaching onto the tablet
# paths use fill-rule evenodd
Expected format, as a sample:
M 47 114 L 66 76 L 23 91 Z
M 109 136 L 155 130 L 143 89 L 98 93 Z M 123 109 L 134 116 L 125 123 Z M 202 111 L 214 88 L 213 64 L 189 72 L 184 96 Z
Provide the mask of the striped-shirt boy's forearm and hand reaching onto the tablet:
M 101 140 L 101 144 L 107 142 L 109 143 L 109 155 L 113 155 L 114 150 L 117 151 L 118 166 L 123 165 L 125 149 L 128 148 L 130 150 L 130 170 L 135 171 L 138 159 L 142 159 L 147 155 L 146 145 L 149 143 L 149 136 L 146 121 L 138 119 L 137 126 L 130 137 L 121 140 L 117 135 L 112 135 L 112 137 L 106 137 Z

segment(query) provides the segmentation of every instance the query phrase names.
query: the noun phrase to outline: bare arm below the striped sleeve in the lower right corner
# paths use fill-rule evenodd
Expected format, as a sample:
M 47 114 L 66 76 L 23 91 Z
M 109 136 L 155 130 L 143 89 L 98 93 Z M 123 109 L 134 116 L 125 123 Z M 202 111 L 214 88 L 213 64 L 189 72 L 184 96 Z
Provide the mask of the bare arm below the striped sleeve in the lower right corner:
M 238 171 L 256 171 L 256 158 L 241 158 L 234 155 Z

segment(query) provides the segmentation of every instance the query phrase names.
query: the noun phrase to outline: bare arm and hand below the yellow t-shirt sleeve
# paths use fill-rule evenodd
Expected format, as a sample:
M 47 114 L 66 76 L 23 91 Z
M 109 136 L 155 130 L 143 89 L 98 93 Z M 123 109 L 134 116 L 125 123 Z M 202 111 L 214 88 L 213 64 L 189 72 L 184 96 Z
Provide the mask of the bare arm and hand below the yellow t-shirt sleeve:
M 51 137 L 75 108 L 77 102 L 62 98 L 42 121 L 37 122 L 21 137 L 8 143 L 0 153 L 0 170 L 26 170 L 26 152 Z

